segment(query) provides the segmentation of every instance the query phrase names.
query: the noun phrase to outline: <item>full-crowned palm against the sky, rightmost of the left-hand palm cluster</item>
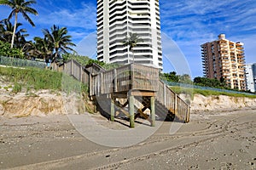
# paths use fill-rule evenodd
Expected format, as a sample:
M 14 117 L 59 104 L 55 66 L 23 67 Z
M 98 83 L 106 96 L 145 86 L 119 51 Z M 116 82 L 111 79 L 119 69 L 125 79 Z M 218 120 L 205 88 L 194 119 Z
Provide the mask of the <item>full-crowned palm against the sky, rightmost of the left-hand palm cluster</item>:
M 53 60 L 57 59 L 61 53 L 67 54 L 67 51 L 73 51 L 73 48 L 69 46 L 76 46 L 72 40 L 71 36 L 67 35 L 67 28 L 59 26 L 52 26 L 50 31 L 48 29 L 43 30 L 44 37 L 47 38 L 49 43 L 54 48 L 55 54 L 53 54 Z

